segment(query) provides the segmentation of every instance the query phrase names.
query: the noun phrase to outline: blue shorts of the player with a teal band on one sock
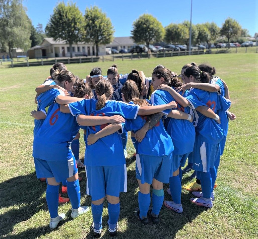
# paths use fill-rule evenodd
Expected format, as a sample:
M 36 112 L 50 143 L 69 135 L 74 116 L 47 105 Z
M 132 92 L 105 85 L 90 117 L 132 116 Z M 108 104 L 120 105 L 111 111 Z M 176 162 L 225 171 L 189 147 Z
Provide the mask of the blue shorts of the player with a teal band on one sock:
M 173 175 L 172 160 L 173 152 L 164 157 L 136 154 L 136 178 L 141 180 L 142 184 L 152 184 L 154 178 L 167 184 Z

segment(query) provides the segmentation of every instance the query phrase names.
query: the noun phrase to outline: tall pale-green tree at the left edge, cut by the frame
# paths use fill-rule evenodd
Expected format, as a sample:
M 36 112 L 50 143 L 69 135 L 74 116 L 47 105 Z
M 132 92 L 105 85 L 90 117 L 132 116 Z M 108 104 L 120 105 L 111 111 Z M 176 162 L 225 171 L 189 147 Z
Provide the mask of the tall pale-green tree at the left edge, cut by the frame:
M 30 20 L 21 0 L 0 1 L 0 42 L 2 49 L 8 47 L 10 58 L 14 47 L 24 51 L 30 47 L 30 31 Z

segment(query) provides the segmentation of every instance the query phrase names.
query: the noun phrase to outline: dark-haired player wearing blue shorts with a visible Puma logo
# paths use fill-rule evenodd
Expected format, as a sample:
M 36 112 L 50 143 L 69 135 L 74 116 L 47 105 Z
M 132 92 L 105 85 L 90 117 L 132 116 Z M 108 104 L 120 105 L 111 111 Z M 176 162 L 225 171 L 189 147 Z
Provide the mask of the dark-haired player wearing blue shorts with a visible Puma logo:
M 200 71 L 198 67 L 189 67 L 184 71 L 184 81 L 208 83 L 210 80 L 206 72 Z M 168 90 L 174 99 L 183 107 L 191 105 L 193 109 L 198 106 L 208 105 L 215 113 L 218 110 L 227 111 L 230 107 L 230 101 L 223 97 L 219 98 L 216 93 L 211 93 L 199 89 L 192 89 L 185 98 L 178 94 L 172 88 L 167 86 L 159 86 L 159 89 Z M 216 169 L 214 167 L 215 159 L 220 154 L 219 143 L 223 138 L 222 129 L 211 118 L 207 118 L 203 114 L 195 111 L 196 117 L 196 138 L 193 147 L 193 169 L 200 172 L 201 186 L 203 196 L 199 198 L 191 198 L 190 200 L 199 205 L 208 208 L 212 207 L 211 193 L 216 179 Z M 219 116 L 216 116 L 219 118 Z

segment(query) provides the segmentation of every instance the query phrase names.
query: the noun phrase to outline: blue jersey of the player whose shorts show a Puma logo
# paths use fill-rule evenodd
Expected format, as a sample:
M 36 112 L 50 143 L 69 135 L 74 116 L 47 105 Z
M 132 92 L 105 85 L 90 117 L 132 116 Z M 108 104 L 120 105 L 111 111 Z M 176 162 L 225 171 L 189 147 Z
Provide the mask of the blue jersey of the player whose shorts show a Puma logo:
M 216 92 L 208 92 L 195 88 L 191 88 L 185 98 L 194 109 L 196 137 L 208 144 L 218 144 L 223 138 L 220 125 L 214 119 L 202 115 L 195 109 L 198 106 L 208 106 L 217 114 L 219 110 L 225 111 L 230 106 L 230 101 L 227 101 L 225 98 L 220 100 Z

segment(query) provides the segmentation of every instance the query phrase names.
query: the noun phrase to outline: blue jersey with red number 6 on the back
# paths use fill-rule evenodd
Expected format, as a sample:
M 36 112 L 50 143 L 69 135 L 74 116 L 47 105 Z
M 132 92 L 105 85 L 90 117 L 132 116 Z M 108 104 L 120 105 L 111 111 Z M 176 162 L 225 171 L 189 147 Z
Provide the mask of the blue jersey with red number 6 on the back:
M 58 103 L 52 104 L 44 123 L 34 137 L 33 157 L 46 161 L 70 159 L 70 144 L 79 129 L 74 116 L 62 113 Z

